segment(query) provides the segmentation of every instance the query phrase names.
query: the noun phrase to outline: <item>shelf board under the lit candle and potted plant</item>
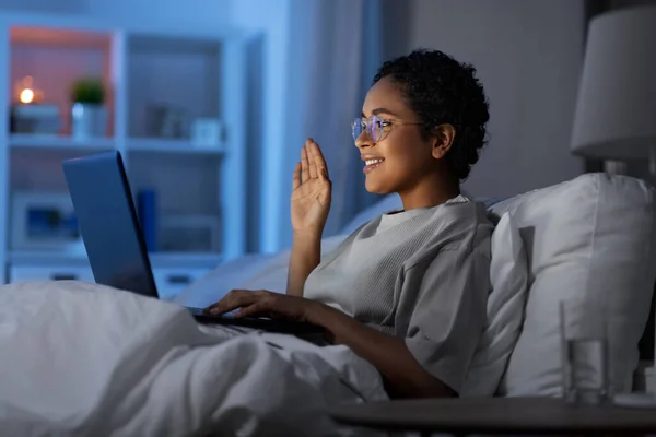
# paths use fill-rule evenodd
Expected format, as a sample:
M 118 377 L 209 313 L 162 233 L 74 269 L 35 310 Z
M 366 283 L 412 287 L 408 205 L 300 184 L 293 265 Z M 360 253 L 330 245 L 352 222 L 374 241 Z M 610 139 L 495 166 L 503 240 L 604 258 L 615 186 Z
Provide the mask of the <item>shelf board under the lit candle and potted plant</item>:
M 115 147 L 114 140 L 110 138 L 78 140 L 67 135 L 24 133 L 12 134 L 9 138 L 9 145 L 13 149 L 67 150 L 75 152 L 101 152 Z

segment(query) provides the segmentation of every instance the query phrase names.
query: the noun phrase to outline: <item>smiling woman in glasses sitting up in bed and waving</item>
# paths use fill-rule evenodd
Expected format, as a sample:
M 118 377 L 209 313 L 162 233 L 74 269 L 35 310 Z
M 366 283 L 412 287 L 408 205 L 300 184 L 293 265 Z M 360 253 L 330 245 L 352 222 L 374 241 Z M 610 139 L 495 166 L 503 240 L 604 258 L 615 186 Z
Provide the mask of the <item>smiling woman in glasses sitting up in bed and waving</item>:
M 321 261 L 331 188 L 307 140 L 293 178 L 286 294 L 232 291 L 206 310 L 321 326 L 376 367 L 390 397 L 457 395 L 484 327 L 493 229 L 459 189 L 485 144 L 488 103 L 475 73 L 441 51 L 384 63 L 353 139 L 366 189 L 398 193 L 403 210 Z

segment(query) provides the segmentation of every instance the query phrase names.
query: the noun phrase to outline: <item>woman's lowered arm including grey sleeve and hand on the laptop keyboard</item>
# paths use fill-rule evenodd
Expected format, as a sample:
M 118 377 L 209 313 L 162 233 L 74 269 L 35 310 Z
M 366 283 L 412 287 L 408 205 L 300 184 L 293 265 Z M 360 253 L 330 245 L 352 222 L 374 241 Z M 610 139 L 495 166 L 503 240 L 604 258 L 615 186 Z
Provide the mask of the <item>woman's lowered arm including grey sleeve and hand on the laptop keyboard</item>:
M 455 395 L 484 329 L 490 262 L 480 253 L 447 250 L 431 265 L 427 272 L 406 272 L 409 284 L 421 285 L 411 314 L 397 316 L 407 326 L 405 338 L 370 328 L 320 302 L 262 290 L 232 291 L 206 311 L 220 315 L 239 308 L 235 317 L 321 326 L 330 341 L 349 346 L 378 370 L 390 397 Z

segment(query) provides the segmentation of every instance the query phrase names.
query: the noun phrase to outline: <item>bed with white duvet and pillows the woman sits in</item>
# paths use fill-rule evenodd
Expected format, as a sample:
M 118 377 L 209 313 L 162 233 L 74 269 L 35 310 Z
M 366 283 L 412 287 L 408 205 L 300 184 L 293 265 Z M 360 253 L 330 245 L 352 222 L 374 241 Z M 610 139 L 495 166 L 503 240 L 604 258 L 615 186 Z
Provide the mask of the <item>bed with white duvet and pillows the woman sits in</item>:
M 493 291 L 461 395 L 560 395 L 557 303 L 576 295 L 611 304 L 611 383 L 631 390 L 656 275 L 653 200 L 645 184 L 608 175 L 481 200 L 496 222 Z M 383 199 L 323 251 L 399 206 Z M 348 347 L 198 326 L 179 305 L 234 287 L 283 291 L 288 259 L 230 261 L 174 302 L 72 281 L 0 287 L 0 434 L 376 435 L 325 413 L 387 399 Z

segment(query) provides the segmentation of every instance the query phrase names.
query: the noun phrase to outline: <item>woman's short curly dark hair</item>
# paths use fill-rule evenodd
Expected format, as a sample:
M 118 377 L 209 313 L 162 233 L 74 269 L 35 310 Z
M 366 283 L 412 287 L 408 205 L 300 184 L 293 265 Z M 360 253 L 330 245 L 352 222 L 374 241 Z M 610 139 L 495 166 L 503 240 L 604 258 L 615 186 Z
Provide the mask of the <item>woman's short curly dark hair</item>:
M 399 86 L 419 116 L 424 138 L 440 125 L 454 126 L 456 137 L 445 160 L 458 179 L 467 179 L 479 160 L 479 151 L 488 142 L 485 125 L 490 119 L 476 69 L 440 50 L 419 49 L 383 63 L 373 84 L 385 76 Z

